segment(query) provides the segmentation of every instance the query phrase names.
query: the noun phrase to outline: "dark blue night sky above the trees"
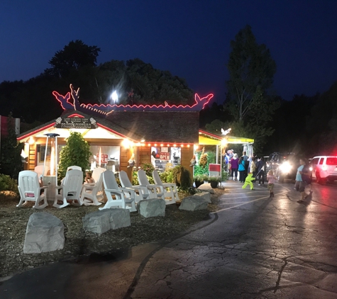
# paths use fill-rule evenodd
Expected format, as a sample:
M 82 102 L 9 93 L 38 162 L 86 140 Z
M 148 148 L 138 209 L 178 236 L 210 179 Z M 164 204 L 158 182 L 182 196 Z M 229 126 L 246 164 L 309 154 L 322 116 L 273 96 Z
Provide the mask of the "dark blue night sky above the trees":
M 37 76 L 79 39 L 101 48 L 98 63 L 140 58 L 222 103 L 230 42 L 246 24 L 270 49 L 282 98 L 336 81 L 336 0 L 1 0 L 0 82 Z

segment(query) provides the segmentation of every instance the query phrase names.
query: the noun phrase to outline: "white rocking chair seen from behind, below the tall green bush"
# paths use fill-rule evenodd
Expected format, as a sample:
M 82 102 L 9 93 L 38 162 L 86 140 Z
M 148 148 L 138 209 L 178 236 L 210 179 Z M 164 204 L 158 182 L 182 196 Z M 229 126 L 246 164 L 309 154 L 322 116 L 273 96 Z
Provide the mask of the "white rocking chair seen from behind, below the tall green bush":
M 65 179 L 61 186 L 55 187 L 55 201 L 53 206 L 55 208 L 64 208 L 72 201 L 72 205 L 80 206 L 82 201 L 80 193 L 82 190 L 83 172 L 78 169 L 68 170 L 65 175 Z M 60 190 L 60 194 L 59 191 Z M 62 205 L 59 205 L 57 201 L 63 201 Z M 77 201 L 77 203 L 76 203 Z

